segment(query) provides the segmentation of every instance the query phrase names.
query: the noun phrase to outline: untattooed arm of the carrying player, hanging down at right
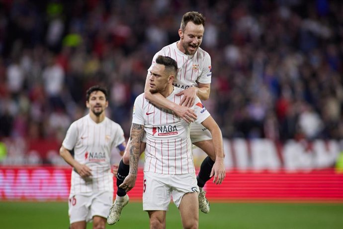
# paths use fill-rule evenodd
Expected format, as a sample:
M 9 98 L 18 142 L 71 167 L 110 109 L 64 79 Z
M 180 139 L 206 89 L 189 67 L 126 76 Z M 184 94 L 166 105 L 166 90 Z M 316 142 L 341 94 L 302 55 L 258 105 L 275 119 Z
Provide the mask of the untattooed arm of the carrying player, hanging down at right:
M 212 142 L 216 160 L 211 170 L 210 177 L 214 176 L 213 183 L 221 184 L 225 178 L 223 137 L 217 122 L 212 116 L 207 117 L 201 124 L 206 127 L 212 135 Z

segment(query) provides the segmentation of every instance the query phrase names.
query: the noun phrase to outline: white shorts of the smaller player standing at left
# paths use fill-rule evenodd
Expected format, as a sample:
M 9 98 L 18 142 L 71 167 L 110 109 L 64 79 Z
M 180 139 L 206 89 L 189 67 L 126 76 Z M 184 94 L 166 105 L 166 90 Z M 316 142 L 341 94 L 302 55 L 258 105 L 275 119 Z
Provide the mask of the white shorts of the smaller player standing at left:
M 89 195 L 70 195 L 68 201 L 70 224 L 80 221 L 90 222 L 93 216 L 107 218 L 112 203 L 113 192 L 109 191 Z

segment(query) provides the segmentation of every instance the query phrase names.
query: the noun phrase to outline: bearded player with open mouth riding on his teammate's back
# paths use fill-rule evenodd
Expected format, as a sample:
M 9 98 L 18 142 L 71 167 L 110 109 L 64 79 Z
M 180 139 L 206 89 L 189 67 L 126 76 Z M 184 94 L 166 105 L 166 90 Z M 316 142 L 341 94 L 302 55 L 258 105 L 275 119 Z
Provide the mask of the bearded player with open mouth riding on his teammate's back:
M 196 119 L 195 113 L 190 109 L 197 97 L 200 100 L 207 100 L 210 95 L 211 84 L 211 57 L 199 46 L 204 35 L 205 18 L 198 12 L 186 12 L 182 16 L 181 25 L 178 30 L 180 40 L 168 46 L 165 46 L 155 54 L 152 65 L 148 70 L 148 76 L 145 84 L 145 98 L 161 108 L 173 111 L 177 116 L 187 122 L 193 122 Z M 149 71 L 155 64 L 159 56 L 169 56 L 177 63 L 178 71 L 174 79 L 173 86 L 183 89 L 177 96 L 181 96 L 180 103 L 173 103 L 164 98 L 160 93 L 152 94 L 149 89 Z M 214 176 L 217 183 L 221 184 L 225 176 L 224 155 L 216 155 L 210 132 L 201 124 L 193 123 L 190 130 L 191 141 L 194 145 L 201 148 L 208 155 L 200 166 L 197 176 L 199 193 L 199 209 L 203 213 L 209 213 L 210 206 L 205 197 L 206 192 L 203 190 L 205 183 Z M 143 139 L 144 141 L 144 139 Z M 144 148 L 144 142 L 142 147 Z M 130 144 L 128 143 L 128 146 Z M 123 182 L 129 173 L 129 147 L 126 148 L 124 156 L 119 163 L 117 172 L 117 196 L 111 207 L 107 223 L 115 224 L 120 217 L 122 208 L 128 202 L 128 195 L 125 190 L 120 189 L 119 185 Z M 220 182 L 219 182 L 220 181 Z

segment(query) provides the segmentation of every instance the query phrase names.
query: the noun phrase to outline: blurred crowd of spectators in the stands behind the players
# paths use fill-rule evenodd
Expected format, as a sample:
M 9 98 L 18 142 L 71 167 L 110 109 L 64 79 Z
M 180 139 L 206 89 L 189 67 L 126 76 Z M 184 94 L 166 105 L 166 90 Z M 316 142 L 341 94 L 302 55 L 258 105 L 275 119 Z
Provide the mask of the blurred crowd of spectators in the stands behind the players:
M 9 164 L 59 163 L 95 84 L 128 136 L 152 57 L 186 11 L 206 17 L 204 104 L 224 137 L 343 137 L 340 0 L 0 0 L 0 160 L 5 147 Z

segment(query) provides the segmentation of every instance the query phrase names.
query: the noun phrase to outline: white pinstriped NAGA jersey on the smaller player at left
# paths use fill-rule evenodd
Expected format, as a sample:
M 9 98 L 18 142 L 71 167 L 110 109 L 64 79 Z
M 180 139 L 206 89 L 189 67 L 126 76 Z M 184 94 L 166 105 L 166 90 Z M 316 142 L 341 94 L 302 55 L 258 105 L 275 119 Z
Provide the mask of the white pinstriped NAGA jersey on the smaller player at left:
M 71 194 L 93 191 L 112 191 L 111 150 L 125 141 L 121 126 L 105 117 L 96 123 L 90 115 L 74 121 L 69 127 L 62 145 L 74 149 L 74 158 L 91 169 L 92 176 L 83 179 L 74 169 L 72 172 Z

